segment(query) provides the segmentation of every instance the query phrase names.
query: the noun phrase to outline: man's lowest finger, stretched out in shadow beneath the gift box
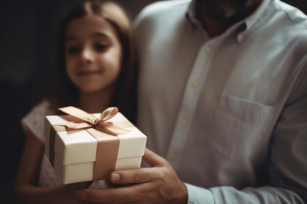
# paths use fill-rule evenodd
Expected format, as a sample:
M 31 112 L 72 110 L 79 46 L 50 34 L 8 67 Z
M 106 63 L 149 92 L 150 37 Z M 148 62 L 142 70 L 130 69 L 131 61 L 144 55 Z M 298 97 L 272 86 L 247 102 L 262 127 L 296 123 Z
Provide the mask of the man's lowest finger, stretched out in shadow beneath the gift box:
M 135 201 L 140 190 L 137 186 L 84 189 L 77 191 L 77 198 L 93 203 L 126 204 Z

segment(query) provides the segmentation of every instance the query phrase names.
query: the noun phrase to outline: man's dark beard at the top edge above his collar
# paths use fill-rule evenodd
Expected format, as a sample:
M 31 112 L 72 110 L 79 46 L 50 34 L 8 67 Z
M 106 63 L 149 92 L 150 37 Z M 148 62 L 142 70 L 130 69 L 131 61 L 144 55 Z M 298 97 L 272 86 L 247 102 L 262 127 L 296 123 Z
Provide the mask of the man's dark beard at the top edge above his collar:
M 217 21 L 233 21 L 240 18 L 255 0 L 198 0 L 201 11 Z

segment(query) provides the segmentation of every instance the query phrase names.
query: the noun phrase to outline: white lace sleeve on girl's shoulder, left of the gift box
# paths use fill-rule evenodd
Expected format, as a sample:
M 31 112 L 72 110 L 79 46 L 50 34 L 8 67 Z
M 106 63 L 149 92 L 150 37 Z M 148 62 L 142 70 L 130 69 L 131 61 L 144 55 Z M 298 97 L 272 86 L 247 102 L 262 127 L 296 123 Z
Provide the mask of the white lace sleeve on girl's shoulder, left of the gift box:
M 21 121 L 26 134 L 31 132 L 42 143 L 45 143 L 45 116 L 52 114 L 55 114 L 55 111 L 51 108 L 51 103 L 48 100 L 43 100 L 34 106 Z

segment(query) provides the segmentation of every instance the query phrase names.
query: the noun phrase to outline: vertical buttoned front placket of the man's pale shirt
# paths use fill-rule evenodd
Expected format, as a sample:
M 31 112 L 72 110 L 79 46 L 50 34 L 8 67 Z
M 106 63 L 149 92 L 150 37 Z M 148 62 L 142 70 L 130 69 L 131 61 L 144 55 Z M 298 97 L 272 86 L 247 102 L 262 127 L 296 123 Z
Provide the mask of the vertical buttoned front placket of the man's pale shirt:
M 217 39 L 215 39 L 207 41 L 201 46 L 185 86 L 169 151 L 166 155 L 166 158 L 175 169 L 179 167 L 179 161 L 188 137 L 189 129 L 192 127 L 193 115 L 196 111 L 201 88 L 203 87 L 210 67 L 214 47 L 217 47 L 217 44 Z

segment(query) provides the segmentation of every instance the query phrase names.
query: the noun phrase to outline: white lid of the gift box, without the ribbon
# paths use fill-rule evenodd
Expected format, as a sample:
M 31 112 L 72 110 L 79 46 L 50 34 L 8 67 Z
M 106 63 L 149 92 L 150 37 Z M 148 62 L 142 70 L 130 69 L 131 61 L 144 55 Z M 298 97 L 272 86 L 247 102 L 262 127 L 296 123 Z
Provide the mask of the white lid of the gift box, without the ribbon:
M 94 113 L 99 117 L 100 113 Z M 117 113 L 108 121 L 128 120 L 122 113 Z M 65 123 L 68 120 L 65 115 L 46 116 L 45 136 L 46 147 L 45 154 L 49 158 L 49 134 L 53 124 Z M 147 137 L 136 127 L 124 128 L 129 130 L 125 135 L 119 135 L 120 145 L 117 159 L 143 156 L 145 152 Z M 73 130 L 58 132 L 55 137 L 54 159 L 57 162 L 65 164 L 90 162 L 96 160 L 97 140 L 85 130 Z

